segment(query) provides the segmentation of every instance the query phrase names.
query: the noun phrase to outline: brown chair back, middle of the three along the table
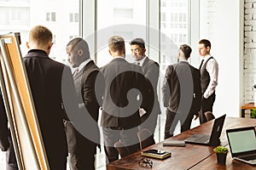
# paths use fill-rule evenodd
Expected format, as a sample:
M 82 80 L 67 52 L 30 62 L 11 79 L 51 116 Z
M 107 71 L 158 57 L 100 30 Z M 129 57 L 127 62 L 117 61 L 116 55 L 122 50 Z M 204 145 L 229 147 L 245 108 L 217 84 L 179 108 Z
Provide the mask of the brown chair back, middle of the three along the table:
M 147 128 L 143 128 L 137 132 L 137 137 L 140 142 L 140 148 L 143 150 L 149 145 L 155 144 L 154 137 Z

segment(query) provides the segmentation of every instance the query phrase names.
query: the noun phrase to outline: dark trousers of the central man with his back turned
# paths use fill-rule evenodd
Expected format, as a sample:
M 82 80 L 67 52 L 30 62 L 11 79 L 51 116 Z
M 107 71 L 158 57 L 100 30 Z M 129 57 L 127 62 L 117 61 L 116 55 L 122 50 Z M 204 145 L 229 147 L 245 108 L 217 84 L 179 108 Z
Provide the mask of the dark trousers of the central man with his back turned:
M 114 148 L 114 144 L 118 141 L 123 142 L 130 153 L 139 150 L 137 127 L 126 130 L 123 127 L 102 127 L 102 131 L 106 163 L 119 159 L 119 152 Z

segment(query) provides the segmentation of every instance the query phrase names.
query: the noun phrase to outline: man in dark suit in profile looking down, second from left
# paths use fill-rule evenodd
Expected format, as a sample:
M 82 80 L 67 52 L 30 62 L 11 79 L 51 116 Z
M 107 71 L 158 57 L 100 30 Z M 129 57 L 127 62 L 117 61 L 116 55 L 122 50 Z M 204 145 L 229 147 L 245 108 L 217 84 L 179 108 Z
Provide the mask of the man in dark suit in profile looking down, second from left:
M 79 100 L 79 109 L 83 114 L 92 117 L 95 123 L 87 130 L 96 139 L 90 136 L 83 136 L 77 131 L 72 122 L 66 122 L 68 163 L 72 170 L 96 169 L 95 154 L 96 145 L 100 144 L 100 131 L 97 126 L 99 108 L 102 105 L 102 95 L 104 92 L 104 78 L 102 72 L 90 59 L 88 43 L 80 37 L 76 37 L 67 43 L 68 61 L 76 71 L 73 73 L 73 80 Z M 91 119 L 84 119 L 85 124 L 90 124 Z

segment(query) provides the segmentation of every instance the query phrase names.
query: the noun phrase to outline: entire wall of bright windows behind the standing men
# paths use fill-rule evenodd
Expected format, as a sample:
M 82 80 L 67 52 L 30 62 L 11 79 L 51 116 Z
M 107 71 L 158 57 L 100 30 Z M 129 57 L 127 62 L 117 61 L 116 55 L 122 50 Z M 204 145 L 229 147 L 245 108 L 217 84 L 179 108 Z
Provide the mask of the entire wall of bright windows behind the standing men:
M 142 37 L 146 42 L 146 54 L 160 63 L 158 94 L 162 115 L 155 133 L 156 141 L 159 141 L 163 139 L 166 118 L 160 88 L 166 66 L 177 62 L 178 46 L 189 43 L 190 1 L 0 0 L 0 34 L 20 32 L 20 48 L 25 55 L 28 31 L 32 26 L 47 26 L 54 34 L 55 43 L 49 56 L 66 64 L 67 42 L 73 37 L 84 36 L 89 42 L 90 55 L 99 67 L 112 59 L 108 54 L 109 37 L 119 35 L 125 38 L 129 62 L 133 62 L 129 42 L 135 37 Z M 4 159 L 0 156 L 1 161 Z

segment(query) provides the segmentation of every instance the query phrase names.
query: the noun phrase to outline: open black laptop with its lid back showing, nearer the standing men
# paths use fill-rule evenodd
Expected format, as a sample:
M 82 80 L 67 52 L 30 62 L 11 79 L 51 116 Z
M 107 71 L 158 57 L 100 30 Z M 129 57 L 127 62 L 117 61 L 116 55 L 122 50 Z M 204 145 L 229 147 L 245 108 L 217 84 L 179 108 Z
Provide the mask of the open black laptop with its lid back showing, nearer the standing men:
M 189 138 L 185 139 L 187 144 L 204 144 L 204 145 L 218 145 L 219 137 L 224 126 L 224 120 L 226 115 L 220 116 L 214 120 L 212 133 L 208 134 L 193 134 Z

